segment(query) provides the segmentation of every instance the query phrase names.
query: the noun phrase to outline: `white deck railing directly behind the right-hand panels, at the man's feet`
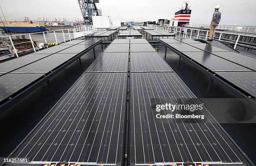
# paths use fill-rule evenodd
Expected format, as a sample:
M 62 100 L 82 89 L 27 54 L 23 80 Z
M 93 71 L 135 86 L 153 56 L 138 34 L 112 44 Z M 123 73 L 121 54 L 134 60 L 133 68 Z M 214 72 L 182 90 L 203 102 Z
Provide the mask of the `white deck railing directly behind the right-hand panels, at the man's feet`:
M 155 30 L 160 30 L 168 33 L 174 33 L 175 35 L 182 36 L 184 38 L 202 38 L 207 39 L 210 34 L 210 30 L 201 30 L 192 27 L 174 27 L 174 26 L 161 26 L 161 25 L 150 25 Z M 233 46 L 236 49 L 237 46 L 245 47 L 248 49 L 256 49 L 256 35 L 246 35 L 235 32 L 223 32 L 215 31 L 215 39 L 218 41 L 225 42 L 226 44 Z

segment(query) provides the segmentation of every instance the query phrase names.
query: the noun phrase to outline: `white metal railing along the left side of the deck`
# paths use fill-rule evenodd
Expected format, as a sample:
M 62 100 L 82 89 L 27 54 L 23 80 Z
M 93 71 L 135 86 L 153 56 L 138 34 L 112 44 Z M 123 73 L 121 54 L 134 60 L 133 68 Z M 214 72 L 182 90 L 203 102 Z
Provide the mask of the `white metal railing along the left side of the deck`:
M 39 43 L 47 42 L 67 42 L 75 40 L 86 35 L 95 33 L 97 30 L 92 25 L 84 26 L 74 26 L 73 28 L 63 29 L 63 30 L 52 30 L 47 32 L 35 32 L 26 34 L 16 34 L 16 35 L 5 35 L 0 36 L 0 41 L 2 41 L 0 48 L 8 48 L 8 52 L 3 56 L 17 56 L 20 53 L 25 53 L 29 51 L 38 51 Z M 32 45 L 32 47 L 31 47 Z M 20 47 L 30 46 L 29 49 L 19 49 Z M 48 46 L 46 46 L 48 48 Z

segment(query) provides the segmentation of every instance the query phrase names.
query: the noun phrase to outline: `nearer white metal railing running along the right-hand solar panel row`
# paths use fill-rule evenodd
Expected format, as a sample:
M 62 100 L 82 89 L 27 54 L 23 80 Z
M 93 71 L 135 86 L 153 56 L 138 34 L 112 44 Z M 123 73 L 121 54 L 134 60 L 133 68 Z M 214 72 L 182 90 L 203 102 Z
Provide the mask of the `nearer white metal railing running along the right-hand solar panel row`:
M 155 30 L 164 31 L 167 33 L 174 33 L 175 35 L 179 35 L 179 37 L 180 36 L 184 38 L 188 37 L 190 39 L 193 36 L 195 36 L 196 39 L 198 39 L 199 37 L 207 39 L 208 35 L 210 34 L 210 30 L 200 30 L 192 27 L 174 27 L 174 26 L 161 26 L 161 25 L 150 25 L 150 27 L 154 27 Z M 201 34 L 200 32 L 205 32 L 205 35 Z M 216 30 L 215 32 L 219 34 L 218 41 L 223 41 L 230 44 L 232 43 L 234 45 L 233 47 L 234 49 L 236 49 L 237 45 L 256 48 L 255 46 L 252 46 L 252 45 L 238 43 L 241 37 L 256 38 L 256 35 L 243 35 L 240 33 L 230 33 L 230 32 L 218 31 L 218 30 Z M 223 40 L 222 38 L 223 35 L 232 35 L 232 36 L 236 36 L 237 38 L 236 40 Z M 214 39 L 214 40 L 217 40 L 217 39 Z

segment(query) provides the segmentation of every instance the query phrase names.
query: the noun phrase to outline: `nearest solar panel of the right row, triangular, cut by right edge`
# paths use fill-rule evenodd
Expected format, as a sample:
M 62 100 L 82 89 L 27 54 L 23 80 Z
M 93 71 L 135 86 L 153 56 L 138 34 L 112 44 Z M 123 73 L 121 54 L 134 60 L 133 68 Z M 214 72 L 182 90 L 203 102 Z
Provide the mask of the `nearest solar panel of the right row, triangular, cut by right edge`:
M 256 97 L 256 72 L 216 72 L 238 88 Z

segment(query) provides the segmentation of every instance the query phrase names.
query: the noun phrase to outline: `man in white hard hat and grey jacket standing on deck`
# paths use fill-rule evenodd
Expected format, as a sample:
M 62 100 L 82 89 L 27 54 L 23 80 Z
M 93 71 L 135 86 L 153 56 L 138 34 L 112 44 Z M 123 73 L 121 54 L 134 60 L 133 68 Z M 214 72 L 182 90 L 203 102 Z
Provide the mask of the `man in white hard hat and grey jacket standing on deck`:
M 219 9 L 220 9 L 220 5 L 216 5 L 214 9 L 214 13 L 212 15 L 212 22 L 210 25 L 210 35 L 209 35 L 208 41 L 212 41 L 212 39 L 214 39 L 215 29 L 216 27 L 219 26 L 220 18 L 221 18 L 221 12 L 219 12 Z

